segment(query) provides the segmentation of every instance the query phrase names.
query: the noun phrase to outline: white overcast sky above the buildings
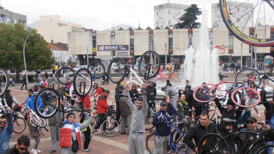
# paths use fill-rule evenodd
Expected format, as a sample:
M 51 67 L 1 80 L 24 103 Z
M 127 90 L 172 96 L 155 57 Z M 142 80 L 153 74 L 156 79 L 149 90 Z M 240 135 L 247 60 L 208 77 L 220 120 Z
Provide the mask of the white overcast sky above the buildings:
M 80 24 L 87 29 L 101 31 L 115 24 L 128 24 L 142 28 L 154 27 L 154 5 L 167 0 L 0 0 L 3 7 L 27 15 L 27 24 L 39 20 L 40 15 L 60 15 L 62 21 Z M 254 0 L 250 0 L 254 1 Z M 208 12 L 208 26 L 211 27 L 211 3 L 219 0 L 170 0 L 169 3 L 196 3 Z M 257 1 L 255 2 L 257 3 Z M 269 14 L 269 13 L 268 13 Z M 201 17 L 200 17 L 201 18 Z

